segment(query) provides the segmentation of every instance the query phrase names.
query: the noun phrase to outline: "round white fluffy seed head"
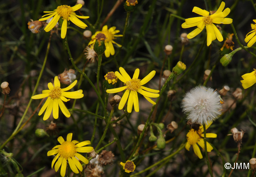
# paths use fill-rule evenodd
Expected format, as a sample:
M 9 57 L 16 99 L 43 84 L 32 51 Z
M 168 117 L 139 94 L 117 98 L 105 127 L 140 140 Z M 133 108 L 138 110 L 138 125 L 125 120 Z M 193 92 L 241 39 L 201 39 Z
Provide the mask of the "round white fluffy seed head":
M 197 86 L 186 93 L 181 107 L 187 119 L 195 124 L 208 124 L 221 114 L 221 99 L 212 88 Z

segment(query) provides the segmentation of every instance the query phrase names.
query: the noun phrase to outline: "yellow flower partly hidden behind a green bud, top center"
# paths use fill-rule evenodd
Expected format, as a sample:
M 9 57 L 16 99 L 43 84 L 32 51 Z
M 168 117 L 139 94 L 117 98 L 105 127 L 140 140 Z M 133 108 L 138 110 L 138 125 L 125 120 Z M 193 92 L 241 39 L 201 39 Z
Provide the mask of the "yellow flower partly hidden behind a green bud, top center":
M 93 36 L 91 36 L 92 41 L 89 42 L 88 45 L 94 45 L 95 41 L 96 41 L 96 35 L 99 33 L 103 33 L 106 36 L 105 39 L 105 46 L 106 46 L 106 50 L 105 50 L 105 56 L 108 58 L 111 55 L 115 54 L 115 50 L 114 50 L 114 46 L 113 43 L 116 44 L 118 47 L 121 47 L 120 44 L 114 42 L 113 40 L 116 39 L 115 37 L 121 37 L 123 35 L 121 34 L 116 34 L 120 32 L 119 30 L 116 30 L 115 26 L 112 26 L 111 28 L 108 29 L 108 26 L 105 25 L 102 28 L 102 31 L 97 31 L 95 32 L 95 34 Z

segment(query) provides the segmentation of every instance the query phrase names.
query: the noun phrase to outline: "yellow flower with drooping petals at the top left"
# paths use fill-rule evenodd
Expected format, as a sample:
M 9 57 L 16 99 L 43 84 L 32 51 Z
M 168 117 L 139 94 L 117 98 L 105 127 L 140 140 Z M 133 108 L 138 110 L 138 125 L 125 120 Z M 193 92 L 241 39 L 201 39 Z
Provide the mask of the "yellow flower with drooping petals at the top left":
M 44 16 L 48 15 L 45 18 L 43 18 L 44 16 L 42 16 L 42 18 L 39 19 L 39 21 L 44 21 L 53 17 L 53 19 L 50 21 L 50 23 L 48 23 L 48 25 L 44 29 L 46 32 L 49 32 L 57 24 L 60 18 L 63 19 L 63 22 L 61 25 L 61 38 L 64 39 L 67 33 L 67 21 L 70 20 L 80 28 L 87 27 L 87 25 L 83 23 L 81 20 L 79 20 L 78 18 L 87 19 L 89 18 L 89 16 L 79 16 L 79 15 L 76 15 L 76 13 L 74 12 L 80 9 L 82 6 L 83 6 L 82 4 L 77 4 L 73 7 L 70 7 L 69 5 L 60 5 L 54 11 L 44 11 L 45 13 L 49 13 L 49 14 L 44 15 Z

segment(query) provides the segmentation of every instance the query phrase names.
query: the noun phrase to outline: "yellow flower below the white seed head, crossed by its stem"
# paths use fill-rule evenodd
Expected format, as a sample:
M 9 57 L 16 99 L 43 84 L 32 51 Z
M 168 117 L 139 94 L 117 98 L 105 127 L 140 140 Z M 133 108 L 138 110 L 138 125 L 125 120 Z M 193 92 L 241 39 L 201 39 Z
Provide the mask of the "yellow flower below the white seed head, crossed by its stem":
M 206 125 L 206 130 L 207 128 L 210 127 L 210 125 L 212 124 L 209 123 L 208 125 Z M 204 149 L 204 134 L 203 134 L 204 130 L 203 130 L 203 126 L 201 125 L 199 127 L 199 130 L 194 130 L 193 128 L 191 128 L 191 130 L 189 130 L 189 132 L 187 133 L 187 144 L 185 146 L 185 148 L 189 151 L 189 148 L 190 146 L 192 145 L 193 146 L 193 150 L 194 150 L 194 153 L 200 158 L 202 159 L 203 156 L 202 156 L 202 153 L 198 147 L 201 146 L 203 149 Z M 217 134 L 215 133 L 207 133 L 206 134 L 206 138 L 216 138 L 217 137 Z M 198 145 L 197 145 L 197 144 Z M 207 152 L 211 152 L 211 150 L 213 149 L 213 147 L 210 145 L 210 143 L 206 142 L 206 146 L 207 146 Z

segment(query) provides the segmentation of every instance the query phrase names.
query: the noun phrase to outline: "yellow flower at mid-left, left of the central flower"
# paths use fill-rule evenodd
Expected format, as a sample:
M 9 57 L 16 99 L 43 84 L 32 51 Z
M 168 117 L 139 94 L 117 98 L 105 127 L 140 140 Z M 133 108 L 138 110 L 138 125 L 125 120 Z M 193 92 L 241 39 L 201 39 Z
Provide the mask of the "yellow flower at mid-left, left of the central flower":
M 65 107 L 63 101 L 67 102 L 70 99 L 78 99 L 83 97 L 83 91 L 78 90 L 75 92 L 65 92 L 70 89 L 72 89 L 76 85 L 77 80 L 75 80 L 71 85 L 69 85 L 66 88 L 60 88 L 60 81 L 58 79 L 58 76 L 54 77 L 54 86 L 51 82 L 48 83 L 48 88 L 49 90 L 44 90 L 42 91 L 42 94 L 39 95 L 34 95 L 31 98 L 32 99 L 42 99 L 45 97 L 48 97 L 47 100 L 45 101 L 45 104 L 42 106 L 40 109 L 38 115 L 42 115 L 42 113 L 45 111 L 44 115 L 44 120 L 47 120 L 50 117 L 51 112 L 53 112 L 53 118 L 58 119 L 59 118 L 59 107 L 60 110 L 63 112 L 63 114 L 69 118 L 70 117 L 70 112 L 68 109 Z

